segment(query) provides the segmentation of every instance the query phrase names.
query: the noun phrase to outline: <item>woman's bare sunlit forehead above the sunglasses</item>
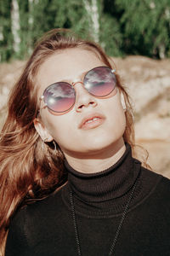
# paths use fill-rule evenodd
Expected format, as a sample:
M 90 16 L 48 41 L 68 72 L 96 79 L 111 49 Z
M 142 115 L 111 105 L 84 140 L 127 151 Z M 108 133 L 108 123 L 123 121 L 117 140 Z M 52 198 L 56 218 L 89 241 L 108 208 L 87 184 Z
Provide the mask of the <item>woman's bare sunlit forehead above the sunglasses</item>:
M 90 69 L 104 65 L 93 51 L 88 49 L 65 49 L 48 57 L 39 67 L 37 84 L 47 87 L 57 81 L 82 79 Z

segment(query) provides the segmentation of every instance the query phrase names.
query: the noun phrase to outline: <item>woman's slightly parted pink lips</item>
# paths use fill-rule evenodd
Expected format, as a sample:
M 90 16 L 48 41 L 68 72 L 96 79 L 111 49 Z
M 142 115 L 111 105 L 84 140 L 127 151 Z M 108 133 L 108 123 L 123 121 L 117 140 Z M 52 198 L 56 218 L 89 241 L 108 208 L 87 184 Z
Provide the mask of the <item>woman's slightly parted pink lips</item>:
M 82 119 L 79 129 L 88 130 L 93 129 L 99 125 L 102 125 L 105 121 L 105 116 L 102 114 L 92 113 Z

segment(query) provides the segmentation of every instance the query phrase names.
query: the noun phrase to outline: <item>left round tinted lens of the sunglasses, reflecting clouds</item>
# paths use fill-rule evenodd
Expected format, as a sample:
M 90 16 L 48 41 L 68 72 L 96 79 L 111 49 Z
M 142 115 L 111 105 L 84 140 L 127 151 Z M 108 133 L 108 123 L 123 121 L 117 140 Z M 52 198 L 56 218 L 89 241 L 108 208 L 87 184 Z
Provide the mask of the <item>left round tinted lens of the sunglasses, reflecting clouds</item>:
M 75 103 L 75 90 L 65 82 L 49 85 L 43 96 L 48 108 L 54 112 L 65 112 Z

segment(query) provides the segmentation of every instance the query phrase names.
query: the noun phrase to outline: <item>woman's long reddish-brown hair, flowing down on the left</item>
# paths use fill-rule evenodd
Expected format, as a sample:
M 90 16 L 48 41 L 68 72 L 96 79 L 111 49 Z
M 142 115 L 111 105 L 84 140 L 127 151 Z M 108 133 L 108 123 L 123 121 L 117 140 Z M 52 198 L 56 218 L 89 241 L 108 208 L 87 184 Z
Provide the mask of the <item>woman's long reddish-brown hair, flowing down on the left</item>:
M 82 48 L 94 51 L 111 67 L 111 59 L 99 45 L 72 36 L 67 30 L 54 29 L 37 44 L 8 100 L 8 117 L 0 137 L 0 247 L 4 253 L 8 225 L 14 212 L 30 200 L 41 199 L 65 183 L 63 154 L 53 143 L 43 143 L 34 128 L 37 118 L 35 79 L 41 64 L 58 50 Z M 126 130 L 124 141 L 133 147 L 133 115 L 126 90 L 118 74 L 117 86 L 125 97 Z

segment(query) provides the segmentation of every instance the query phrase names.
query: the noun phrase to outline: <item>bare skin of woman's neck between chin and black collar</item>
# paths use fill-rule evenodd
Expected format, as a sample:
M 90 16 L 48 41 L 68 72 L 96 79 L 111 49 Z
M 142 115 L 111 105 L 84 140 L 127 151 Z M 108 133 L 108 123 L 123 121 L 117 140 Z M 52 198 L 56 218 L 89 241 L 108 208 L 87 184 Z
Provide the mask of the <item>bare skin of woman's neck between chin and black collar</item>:
M 93 154 L 82 154 L 82 156 L 78 155 L 77 157 L 77 154 L 74 155 L 65 152 L 65 159 L 73 169 L 77 170 L 77 172 L 102 172 L 114 165 L 122 157 L 125 150 L 125 143 L 122 139 L 119 140 L 119 142 L 111 144 L 110 147 L 101 149 Z

